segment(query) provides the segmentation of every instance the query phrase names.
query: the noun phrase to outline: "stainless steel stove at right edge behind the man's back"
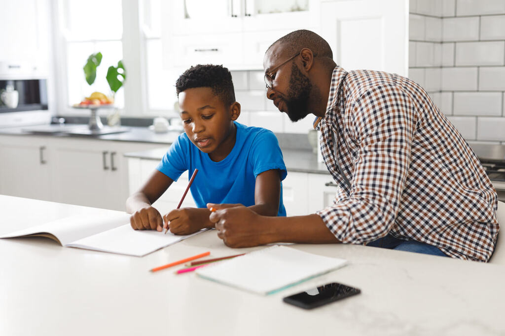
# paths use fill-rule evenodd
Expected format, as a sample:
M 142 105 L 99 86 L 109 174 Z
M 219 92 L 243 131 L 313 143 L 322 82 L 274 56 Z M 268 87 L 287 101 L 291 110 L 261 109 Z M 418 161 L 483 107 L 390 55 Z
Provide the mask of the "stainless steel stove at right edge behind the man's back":
M 471 145 L 491 180 L 498 200 L 505 202 L 505 145 Z

